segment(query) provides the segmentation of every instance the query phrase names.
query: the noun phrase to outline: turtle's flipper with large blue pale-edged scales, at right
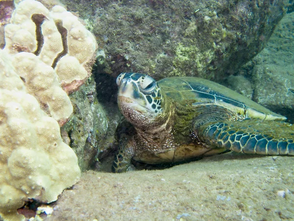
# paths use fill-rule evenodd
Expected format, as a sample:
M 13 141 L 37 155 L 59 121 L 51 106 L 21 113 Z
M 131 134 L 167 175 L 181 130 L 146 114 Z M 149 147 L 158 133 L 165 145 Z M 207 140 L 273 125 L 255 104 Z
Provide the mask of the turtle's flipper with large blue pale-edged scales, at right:
M 195 129 L 198 138 L 235 152 L 294 155 L 294 125 L 267 120 L 206 123 Z

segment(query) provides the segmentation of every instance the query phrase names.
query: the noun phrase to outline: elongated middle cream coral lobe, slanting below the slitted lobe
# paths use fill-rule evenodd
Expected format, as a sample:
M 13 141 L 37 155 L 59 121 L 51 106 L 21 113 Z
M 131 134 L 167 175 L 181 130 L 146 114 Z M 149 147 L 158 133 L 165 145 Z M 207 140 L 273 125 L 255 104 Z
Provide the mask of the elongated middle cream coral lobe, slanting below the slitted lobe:
M 46 65 L 36 55 L 21 52 L 13 57 L 16 73 L 24 79 L 26 91 L 46 105 L 50 115 L 60 125 L 67 122 L 73 112 L 72 103 L 60 87 L 54 69 Z

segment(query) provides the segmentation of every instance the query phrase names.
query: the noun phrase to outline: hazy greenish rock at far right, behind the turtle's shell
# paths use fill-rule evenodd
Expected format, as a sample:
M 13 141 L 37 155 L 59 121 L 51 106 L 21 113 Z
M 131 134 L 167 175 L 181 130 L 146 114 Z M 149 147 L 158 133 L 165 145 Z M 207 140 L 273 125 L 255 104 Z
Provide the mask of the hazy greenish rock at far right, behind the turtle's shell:
M 266 48 L 227 85 L 237 92 L 247 91 L 250 81 L 252 100 L 294 123 L 294 12 L 286 14 L 275 28 Z M 234 79 L 234 81 L 231 81 Z M 237 86 L 239 85 L 239 86 Z M 239 87 L 239 88 L 238 88 Z

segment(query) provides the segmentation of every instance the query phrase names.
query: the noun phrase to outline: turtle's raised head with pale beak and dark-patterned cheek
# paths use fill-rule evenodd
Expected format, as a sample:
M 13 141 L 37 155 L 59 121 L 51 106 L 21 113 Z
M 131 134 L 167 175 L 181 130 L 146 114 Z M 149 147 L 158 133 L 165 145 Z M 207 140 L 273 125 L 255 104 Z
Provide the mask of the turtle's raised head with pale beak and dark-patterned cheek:
M 163 96 L 153 78 L 139 73 L 122 73 L 117 84 L 119 108 L 134 126 L 146 128 L 163 112 Z

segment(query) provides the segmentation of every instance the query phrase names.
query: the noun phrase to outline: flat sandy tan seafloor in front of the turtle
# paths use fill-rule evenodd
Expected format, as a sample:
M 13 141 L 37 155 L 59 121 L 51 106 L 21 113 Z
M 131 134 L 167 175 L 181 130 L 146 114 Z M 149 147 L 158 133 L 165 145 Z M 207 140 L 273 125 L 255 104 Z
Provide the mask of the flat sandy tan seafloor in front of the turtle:
M 46 221 L 294 220 L 294 157 L 227 153 L 164 170 L 87 171 Z

